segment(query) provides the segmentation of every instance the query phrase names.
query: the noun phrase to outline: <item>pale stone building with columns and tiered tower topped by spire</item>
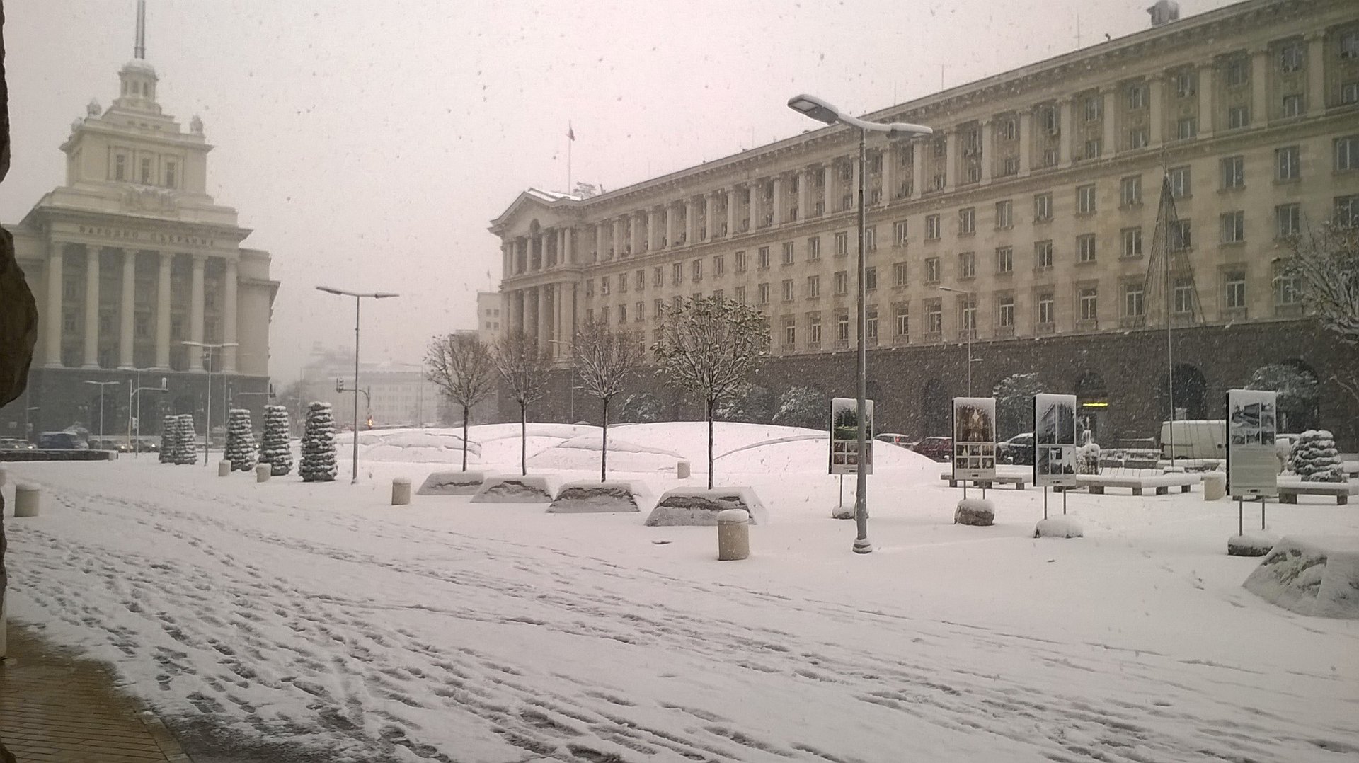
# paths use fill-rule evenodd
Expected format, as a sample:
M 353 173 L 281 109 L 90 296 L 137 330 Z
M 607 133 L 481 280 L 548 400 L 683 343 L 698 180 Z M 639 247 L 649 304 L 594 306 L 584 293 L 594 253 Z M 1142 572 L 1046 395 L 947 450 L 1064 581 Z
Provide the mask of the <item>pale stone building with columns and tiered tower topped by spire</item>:
M 118 97 L 107 109 L 91 101 L 61 144 L 65 184 L 5 226 L 38 299 L 41 336 L 29 394 L 0 411 L 0 437 L 76 423 L 99 431 L 101 390 L 105 433 L 125 435 L 132 385 L 160 377 L 170 392 L 147 396 L 140 431 L 159 433 L 160 413 L 173 411 L 197 415 L 201 433 L 209 363 L 213 427 L 219 405 L 258 412 L 265 403 L 279 288 L 269 253 L 242 246 L 250 230 L 208 196 L 202 121 L 186 132 L 162 112 L 143 19 L 139 3 Z

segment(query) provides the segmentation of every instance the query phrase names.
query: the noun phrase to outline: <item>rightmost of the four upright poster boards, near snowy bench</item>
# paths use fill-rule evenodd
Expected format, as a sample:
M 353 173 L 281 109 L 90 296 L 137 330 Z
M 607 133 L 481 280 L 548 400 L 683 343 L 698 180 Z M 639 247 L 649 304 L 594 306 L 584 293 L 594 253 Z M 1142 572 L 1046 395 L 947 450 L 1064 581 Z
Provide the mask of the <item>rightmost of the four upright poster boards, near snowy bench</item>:
M 1279 495 L 1277 392 L 1227 390 L 1227 495 Z

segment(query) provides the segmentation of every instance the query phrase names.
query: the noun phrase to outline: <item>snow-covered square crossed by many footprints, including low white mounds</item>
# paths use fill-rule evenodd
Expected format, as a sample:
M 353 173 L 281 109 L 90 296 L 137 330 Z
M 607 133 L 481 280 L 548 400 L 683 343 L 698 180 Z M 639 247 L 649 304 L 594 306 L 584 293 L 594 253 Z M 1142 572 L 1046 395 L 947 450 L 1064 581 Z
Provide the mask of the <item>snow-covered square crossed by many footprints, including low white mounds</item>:
M 771 514 L 750 559 L 719 563 L 713 528 L 646 528 L 650 506 L 389 506 L 391 477 L 461 460 L 459 434 L 360 434 L 357 486 L 344 443 L 330 484 L 155 458 L 11 465 L 11 483 L 45 488 L 41 517 L 7 520 L 11 612 L 111 662 L 230 759 L 1359 755 L 1359 622 L 1242 589 L 1258 559 L 1226 555 L 1237 506 L 1197 488 L 1071 494 L 1084 537 L 1034 539 L 1041 491 L 989 491 L 995 526 L 953 525 L 962 491 L 943 467 L 879 443 L 877 551 L 855 555 L 853 522 L 829 518 L 824 435 L 719 424 L 718 481 L 754 487 Z M 531 426 L 530 471 L 598 479 L 597 434 Z M 474 428 L 469 461 L 516 472 L 516 435 Z M 647 483 L 651 501 L 707 481 L 701 423 L 610 441 L 629 469 L 610 479 Z M 1268 524 L 1359 535 L 1359 511 L 1303 498 Z

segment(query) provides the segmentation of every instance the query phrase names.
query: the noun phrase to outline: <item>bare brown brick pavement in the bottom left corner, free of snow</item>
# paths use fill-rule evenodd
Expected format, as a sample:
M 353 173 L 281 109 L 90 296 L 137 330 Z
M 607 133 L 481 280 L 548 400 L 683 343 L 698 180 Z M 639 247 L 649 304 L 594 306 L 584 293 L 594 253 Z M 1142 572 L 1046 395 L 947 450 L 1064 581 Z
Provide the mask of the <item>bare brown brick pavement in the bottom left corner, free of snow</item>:
M 19 763 L 188 763 L 160 721 L 114 690 L 107 668 L 10 623 L 0 741 Z

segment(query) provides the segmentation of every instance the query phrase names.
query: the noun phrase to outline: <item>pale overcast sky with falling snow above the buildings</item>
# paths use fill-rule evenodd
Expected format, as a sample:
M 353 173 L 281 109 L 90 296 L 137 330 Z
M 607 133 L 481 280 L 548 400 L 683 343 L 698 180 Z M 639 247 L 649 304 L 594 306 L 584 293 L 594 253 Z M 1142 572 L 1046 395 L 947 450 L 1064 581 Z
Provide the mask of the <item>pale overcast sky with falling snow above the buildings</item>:
M 575 180 L 614 189 L 807 129 L 796 92 L 882 109 L 1070 52 L 1078 23 L 1083 45 L 1146 29 L 1148 4 L 149 0 L 147 60 L 162 107 L 216 146 L 208 192 L 273 254 L 270 370 L 289 381 L 313 341 L 352 347 L 352 301 L 318 283 L 401 292 L 366 305 L 366 359 L 419 362 L 473 328 L 500 277 L 487 224 L 527 186 L 564 189 L 568 121 Z M 63 181 L 71 121 L 117 94 L 136 3 L 5 16 L 12 223 Z

